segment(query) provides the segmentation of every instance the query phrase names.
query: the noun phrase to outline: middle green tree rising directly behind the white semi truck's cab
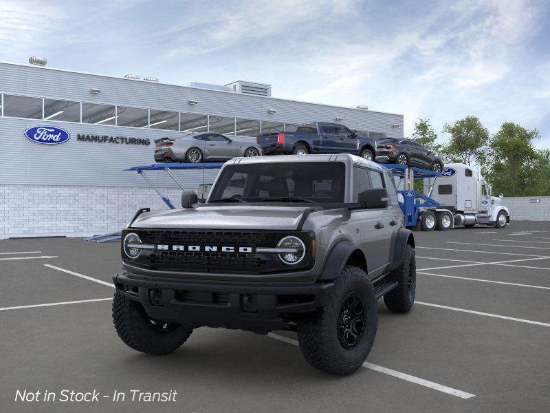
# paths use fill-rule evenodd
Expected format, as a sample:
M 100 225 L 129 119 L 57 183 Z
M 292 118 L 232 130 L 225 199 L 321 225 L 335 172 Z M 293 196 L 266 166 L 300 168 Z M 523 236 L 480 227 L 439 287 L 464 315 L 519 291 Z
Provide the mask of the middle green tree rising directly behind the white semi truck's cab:
M 483 165 L 489 131 L 481 125 L 476 116 L 466 116 L 454 123 L 446 123 L 443 132 L 450 134 L 450 140 L 442 149 L 443 156 L 450 162 L 467 165 Z

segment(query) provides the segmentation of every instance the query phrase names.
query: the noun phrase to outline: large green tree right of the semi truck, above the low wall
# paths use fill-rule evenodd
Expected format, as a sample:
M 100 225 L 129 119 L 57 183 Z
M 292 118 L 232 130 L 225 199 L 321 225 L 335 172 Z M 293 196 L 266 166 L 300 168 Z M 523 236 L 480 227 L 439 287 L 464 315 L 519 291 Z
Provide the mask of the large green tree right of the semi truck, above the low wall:
M 489 142 L 487 180 L 494 193 L 507 196 L 542 195 L 548 191 L 544 175 L 550 173 L 548 151 L 537 151 L 533 140 L 540 138 L 537 129 L 526 129 L 506 122 Z

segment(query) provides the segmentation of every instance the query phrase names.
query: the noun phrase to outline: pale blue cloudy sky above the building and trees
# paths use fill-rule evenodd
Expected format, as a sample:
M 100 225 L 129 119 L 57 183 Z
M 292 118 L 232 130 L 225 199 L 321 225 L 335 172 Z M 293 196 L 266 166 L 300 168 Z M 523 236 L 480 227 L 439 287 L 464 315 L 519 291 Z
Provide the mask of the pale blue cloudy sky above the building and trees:
M 550 147 L 550 2 L 0 0 L 0 61 L 161 82 L 270 83 L 281 98 L 514 121 Z M 445 136 L 442 136 L 444 139 Z

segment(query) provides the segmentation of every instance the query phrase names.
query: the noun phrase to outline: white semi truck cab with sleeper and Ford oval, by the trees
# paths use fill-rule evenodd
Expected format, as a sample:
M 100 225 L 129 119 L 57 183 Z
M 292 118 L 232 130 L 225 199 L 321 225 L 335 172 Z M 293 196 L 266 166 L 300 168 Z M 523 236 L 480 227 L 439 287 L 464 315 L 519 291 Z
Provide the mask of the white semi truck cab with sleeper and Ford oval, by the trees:
M 434 229 L 436 225 L 437 229 L 443 230 L 454 225 L 470 228 L 476 224 L 504 228 L 510 222 L 509 211 L 502 205 L 503 195 L 492 196 L 491 186 L 481 173 L 468 165 L 445 164 L 441 176 L 424 178 L 423 193 L 439 204 L 437 211 L 448 210 L 452 215 L 452 222 L 440 222 L 435 211 L 421 211 L 419 220 L 423 222 L 421 227 L 425 231 Z M 441 228 L 441 224 L 445 228 Z

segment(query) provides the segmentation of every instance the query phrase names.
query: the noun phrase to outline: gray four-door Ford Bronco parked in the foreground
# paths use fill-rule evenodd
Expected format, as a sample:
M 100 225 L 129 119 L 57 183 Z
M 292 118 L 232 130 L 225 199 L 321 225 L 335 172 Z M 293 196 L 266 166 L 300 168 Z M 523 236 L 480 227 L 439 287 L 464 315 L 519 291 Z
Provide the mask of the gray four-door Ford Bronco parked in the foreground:
M 234 158 L 206 202 L 142 209 L 122 231 L 113 319 L 131 348 L 173 352 L 201 326 L 296 330 L 311 366 L 350 374 L 377 299 L 415 300 L 415 241 L 393 175 L 349 154 Z

